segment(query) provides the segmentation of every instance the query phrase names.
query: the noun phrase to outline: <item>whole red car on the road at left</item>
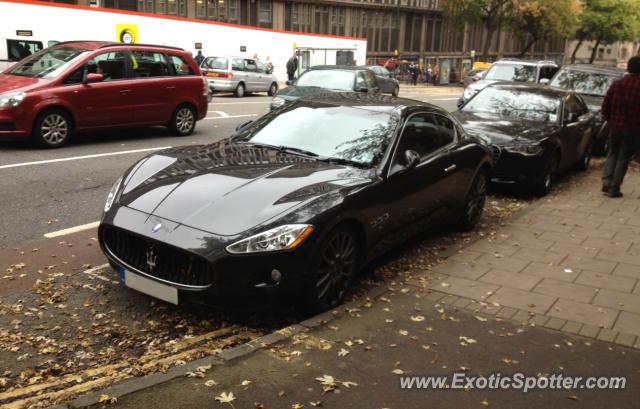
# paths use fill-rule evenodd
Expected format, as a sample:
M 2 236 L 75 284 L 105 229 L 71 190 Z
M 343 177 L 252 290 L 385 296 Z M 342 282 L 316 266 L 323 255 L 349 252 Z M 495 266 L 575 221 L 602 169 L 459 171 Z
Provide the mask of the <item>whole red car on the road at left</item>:
M 190 135 L 208 84 L 179 48 L 64 42 L 0 74 L 0 138 L 63 146 L 76 132 L 166 125 Z

